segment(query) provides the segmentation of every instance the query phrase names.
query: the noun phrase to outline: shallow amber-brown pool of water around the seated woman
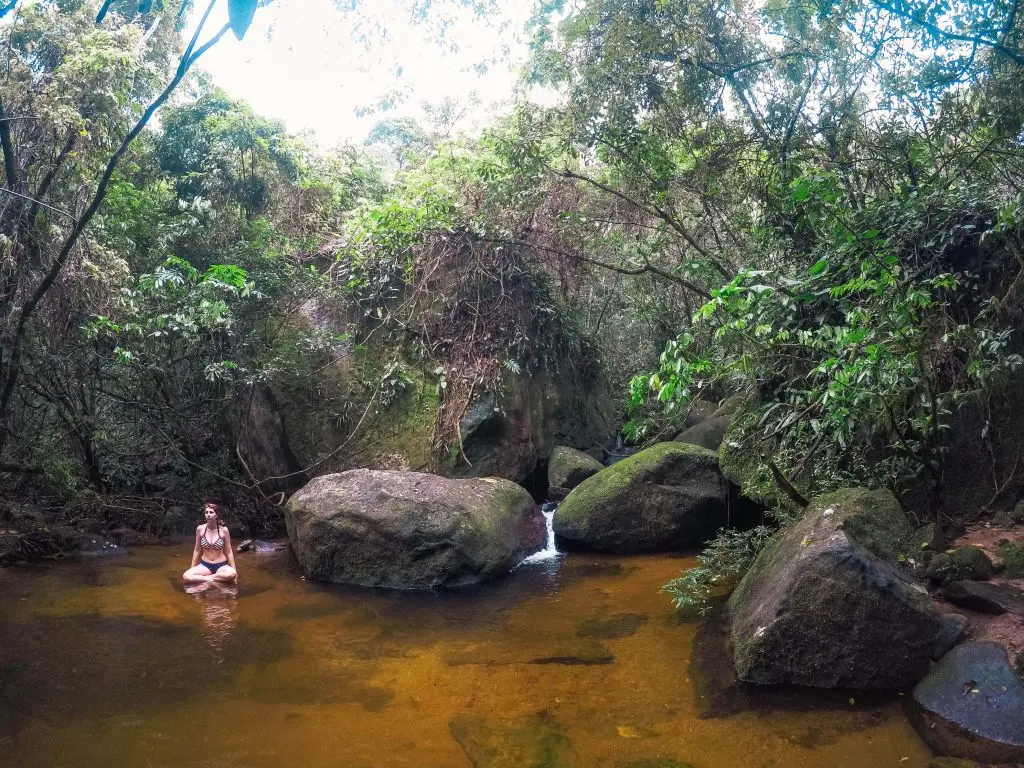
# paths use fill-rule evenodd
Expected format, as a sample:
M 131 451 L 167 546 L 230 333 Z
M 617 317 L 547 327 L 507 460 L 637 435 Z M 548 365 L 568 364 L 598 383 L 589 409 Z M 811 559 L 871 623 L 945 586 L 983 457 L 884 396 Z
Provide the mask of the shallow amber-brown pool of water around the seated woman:
M 190 543 L 0 568 L 0 768 L 925 768 L 898 696 L 729 685 L 685 558 L 570 554 L 439 594 L 287 552 L 188 595 Z

